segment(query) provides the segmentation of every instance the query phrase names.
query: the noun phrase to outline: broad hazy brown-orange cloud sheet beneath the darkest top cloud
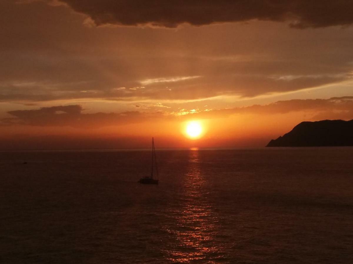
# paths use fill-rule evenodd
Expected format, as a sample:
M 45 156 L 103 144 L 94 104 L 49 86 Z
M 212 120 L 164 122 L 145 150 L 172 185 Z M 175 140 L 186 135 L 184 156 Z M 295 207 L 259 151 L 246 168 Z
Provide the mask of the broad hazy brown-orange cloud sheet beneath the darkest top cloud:
M 6 26 L 0 30 L 0 102 L 189 101 L 286 93 L 332 83 L 340 86 L 342 81 L 353 80 L 353 28 L 293 31 L 283 23 L 263 21 L 177 31 L 89 29 L 82 26 L 81 14 L 43 1 L 20 5 L 0 1 L 0 10 L 7 10 L 2 17 Z M 107 10 L 107 5 L 139 4 L 71 2 L 72 6 L 82 5 L 98 13 L 115 12 Z M 177 5 L 169 2 L 157 4 L 165 8 L 165 3 Z M 235 2 L 229 1 L 228 5 Z M 236 5 L 250 2 L 238 1 Z M 210 5 L 217 5 L 212 10 L 221 12 L 226 5 L 222 1 L 188 1 L 183 6 L 187 9 L 192 3 L 195 8 L 189 8 L 189 12 L 200 7 L 207 10 Z M 281 3 L 285 5 L 286 1 Z M 144 1 L 140 7 L 145 5 L 151 5 L 151 1 Z M 325 4 L 316 4 L 318 9 L 321 6 Z M 134 14 L 140 18 L 138 12 Z M 336 95 L 332 90 L 330 95 Z

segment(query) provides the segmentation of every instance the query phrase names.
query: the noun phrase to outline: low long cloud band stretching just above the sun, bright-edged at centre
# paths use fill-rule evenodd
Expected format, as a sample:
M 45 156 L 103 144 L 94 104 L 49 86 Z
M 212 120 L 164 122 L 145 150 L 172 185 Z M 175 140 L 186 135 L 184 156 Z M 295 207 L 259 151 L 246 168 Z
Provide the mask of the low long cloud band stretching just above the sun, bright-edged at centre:
M 151 107 L 165 107 L 160 103 Z M 147 120 L 183 121 L 190 118 L 212 119 L 226 118 L 235 114 L 274 115 L 290 112 L 306 112 L 311 120 L 322 119 L 353 119 L 353 96 L 330 99 L 306 99 L 277 101 L 268 105 L 252 105 L 228 109 L 180 109 L 178 112 L 139 112 L 127 111 L 121 113 L 82 113 L 79 105 L 42 107 L 33 110 L 9 111 L 11 118 L 3 118 L 2 126 L 71 126 L 76 128 L 97 128 L 140 123 Z

